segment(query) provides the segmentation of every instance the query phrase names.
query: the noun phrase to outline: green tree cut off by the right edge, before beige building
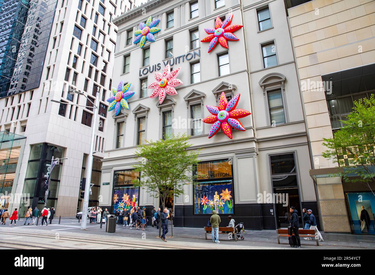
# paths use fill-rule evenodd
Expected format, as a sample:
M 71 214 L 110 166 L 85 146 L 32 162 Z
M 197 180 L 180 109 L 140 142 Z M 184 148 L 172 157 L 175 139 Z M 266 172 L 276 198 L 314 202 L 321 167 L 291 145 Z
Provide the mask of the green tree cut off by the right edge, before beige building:
M 323 138 L 323 145 L 328 149 L 322 156 L 332 159 L 342 168 L 331 176 L 341 176 L 347 183 L 365 184 L 374 194 L 370 186 L 375 182 L 374 94 L 353 103 L 353 111 L 348 114 L 347 120 L 341 120 L 344 126 L 335 132 L 333 138 Z

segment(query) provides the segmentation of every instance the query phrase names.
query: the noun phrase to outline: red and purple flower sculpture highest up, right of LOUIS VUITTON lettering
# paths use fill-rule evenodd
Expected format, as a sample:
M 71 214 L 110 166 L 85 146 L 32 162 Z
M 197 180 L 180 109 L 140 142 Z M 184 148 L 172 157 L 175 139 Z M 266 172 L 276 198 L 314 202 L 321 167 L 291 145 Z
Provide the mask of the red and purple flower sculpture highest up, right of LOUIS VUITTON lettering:
M 217 16 L 215 21 L 215 28 L 205 28 L 205 32 L 208 36 L 204 37 L 201 42 L 210 42 L 208 46 L 208 52 L 211 52 L 217 43 L 219 43 L 224 48 L 228 49 L 228 42 L 227 40 L 239 40 L 232 32 L 239 30 L 242 28 L 242 25 L 230 25 L 233 18 L 233 14 L 229 15 L 228 18 L 221 21 L 220 17 Z

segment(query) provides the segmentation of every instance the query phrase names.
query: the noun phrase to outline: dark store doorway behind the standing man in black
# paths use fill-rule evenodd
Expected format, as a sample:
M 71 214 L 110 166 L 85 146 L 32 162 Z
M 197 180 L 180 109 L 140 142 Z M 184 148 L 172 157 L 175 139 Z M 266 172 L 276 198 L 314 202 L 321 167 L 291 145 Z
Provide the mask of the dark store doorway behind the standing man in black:
M 301 219 L 301 207 L 300 207 L 300 197 L 298 194 L 298 187 L 290 188 L 274 188 L 275 194 L 282 194 L 282 200 L 275 201 L 276 208 L 276 222 L 278 228 L 285 228 L 289 226 L 290 221 L 290 207 L 294 206 L 298 211 L 298 218 L 300 221 L 300 226 L 302 224 Z

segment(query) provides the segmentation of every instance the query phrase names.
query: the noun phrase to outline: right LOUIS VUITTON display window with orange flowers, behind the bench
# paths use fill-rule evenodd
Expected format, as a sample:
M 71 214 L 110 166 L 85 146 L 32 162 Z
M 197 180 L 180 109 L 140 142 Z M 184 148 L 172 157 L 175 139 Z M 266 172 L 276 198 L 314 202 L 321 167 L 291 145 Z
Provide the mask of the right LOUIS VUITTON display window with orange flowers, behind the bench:
M 199 162 L 194 170 L 194 215 L 234 214 L 232 165 L 229 159 Z

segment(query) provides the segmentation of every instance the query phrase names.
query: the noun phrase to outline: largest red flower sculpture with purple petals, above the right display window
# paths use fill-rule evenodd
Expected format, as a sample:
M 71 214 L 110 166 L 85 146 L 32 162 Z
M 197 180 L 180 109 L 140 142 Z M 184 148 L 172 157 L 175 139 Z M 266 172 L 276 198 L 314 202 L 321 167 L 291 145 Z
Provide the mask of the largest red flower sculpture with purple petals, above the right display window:
M 204 123 L 212 124 L 210 134 L 208 138 L 213 137 L 220 129 L 229 138 L 232 136 L 232 128 L 236 128 L 240 131 L 246 131 L 238 118 L 248 116 L 251 114 L 249 111 L 243 109 L 235 109 L 240 99 L 241 94 L 235 95 L 229 102 L 226 100 L 225 93 L 222 92 L 219 100 L 219 107 L 207 105 L 207 110 L 212 114 L 205 117 L 202 121 Z

